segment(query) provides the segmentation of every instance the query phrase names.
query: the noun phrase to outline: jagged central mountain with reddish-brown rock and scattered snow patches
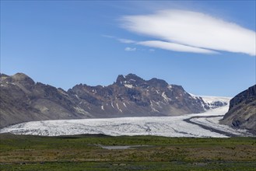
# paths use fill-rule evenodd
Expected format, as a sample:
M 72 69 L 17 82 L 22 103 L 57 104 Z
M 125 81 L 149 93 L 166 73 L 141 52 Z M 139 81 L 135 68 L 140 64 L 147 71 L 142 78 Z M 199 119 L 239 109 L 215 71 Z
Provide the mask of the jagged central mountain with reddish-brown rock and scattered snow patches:
M 119 75 L 110 86 L 77 85 L 68 94 L 81 108 L 97 117 L 164 116 L 205 111 L 181 86 L 160 79 L 145 81 L 136 75 Z

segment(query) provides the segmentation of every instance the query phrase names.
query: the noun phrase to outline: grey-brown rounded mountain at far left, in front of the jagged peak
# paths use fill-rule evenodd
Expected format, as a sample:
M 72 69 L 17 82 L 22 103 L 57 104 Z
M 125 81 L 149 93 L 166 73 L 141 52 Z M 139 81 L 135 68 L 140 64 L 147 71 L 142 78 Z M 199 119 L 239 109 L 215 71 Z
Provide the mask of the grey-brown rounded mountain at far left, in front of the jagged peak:
M 31 120 L 81 118 L 72 98 L 61 89 L 33 82 L 18 73 L 0 77 L 0 127 Z

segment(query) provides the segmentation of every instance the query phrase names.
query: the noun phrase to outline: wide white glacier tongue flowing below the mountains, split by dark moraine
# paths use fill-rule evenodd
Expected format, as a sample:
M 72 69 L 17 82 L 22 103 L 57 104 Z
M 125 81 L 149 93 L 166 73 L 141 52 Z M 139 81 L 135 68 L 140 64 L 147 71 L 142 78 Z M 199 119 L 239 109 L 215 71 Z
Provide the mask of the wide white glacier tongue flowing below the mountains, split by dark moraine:
M 191 124 L 186 119 L 194 118 L 192 121 L 200 124 L 230 132 L 237 135 L 245 135 L 246 131 L 233 130 L 226 125 L 219 125 L 219 118 L 224 115 L 228 106 L 208 110 L 205 113 L 186 114 L 176 117 L 122 117 L 107 119 L 81 119 L 81 120 L 45 120 L 16 124 L 0 130 L 1 133 L 12 134 L 34 134 L 46 136 L 58 136 L 67 134 L 107 134 L 118 135 L 158 135 L 166 137 L 226 137 L 225 134 L 209 131 L 197 124 Z M 212 119 L 210 120 L 210 117 Z M 207 117 L 207 118 L 206 118 Z M 209 121 L 210 120 L 210 121 Z

